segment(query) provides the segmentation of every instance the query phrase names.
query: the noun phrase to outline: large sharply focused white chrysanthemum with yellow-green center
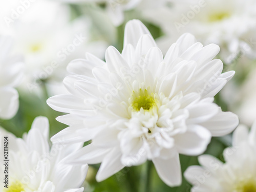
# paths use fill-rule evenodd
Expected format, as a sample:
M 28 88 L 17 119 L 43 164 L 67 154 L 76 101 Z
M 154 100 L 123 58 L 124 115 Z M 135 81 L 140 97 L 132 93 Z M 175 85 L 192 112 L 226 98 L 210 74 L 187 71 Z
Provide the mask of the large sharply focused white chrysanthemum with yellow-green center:
M 199 155 L 211 136 L 230 133 L 238 124 L 236 115 L 213 103 L 234 75 L 221 74 L 222 61 L 212 60 L 218 52 L 217 45 L 203 47 L 184 34 L 163 58 L 146 27 L 130 21 L 121 54 L 109 47 L 106 62 L 87 54 L 68 66 L 75 74 L 63 81 L 70 94 L 47 103 L 69 113 L 57 120 L 70 127 L 52 141 L 92 140 L 75 161 L 102 162 L 98 181 L 148 159 L 166 184 L 179 185 L 179 153 Z

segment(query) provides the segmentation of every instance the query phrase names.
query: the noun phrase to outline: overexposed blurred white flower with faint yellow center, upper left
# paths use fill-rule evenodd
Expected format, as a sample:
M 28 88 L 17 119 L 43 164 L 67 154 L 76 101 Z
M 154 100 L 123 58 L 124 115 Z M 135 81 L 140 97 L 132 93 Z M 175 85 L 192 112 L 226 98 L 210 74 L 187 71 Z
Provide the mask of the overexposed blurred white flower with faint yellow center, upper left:
M 17 9 L 20 2 L 12 7 Z M 22 88 L 29 91 L 38 88 L 38 79 L 52 78 L 61 82 L 67 75 L 68 63 L 83 57 L 87 51 L 103 58 L 106 42 L 94 36 L 91 28 L 87 17 L 71 20 L 71 9 L 67 5 L 47 0 L 30 3 L 24 14 L 8 28 L 15 39 L 14 52 L 25 57 L 26 78 Z

